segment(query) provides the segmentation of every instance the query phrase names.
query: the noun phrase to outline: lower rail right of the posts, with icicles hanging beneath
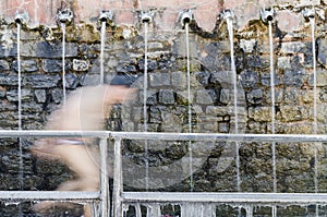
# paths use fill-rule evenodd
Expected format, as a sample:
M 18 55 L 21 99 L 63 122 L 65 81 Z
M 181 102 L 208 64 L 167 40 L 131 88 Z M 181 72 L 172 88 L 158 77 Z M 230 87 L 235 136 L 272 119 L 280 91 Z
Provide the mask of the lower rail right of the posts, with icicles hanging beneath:
M 124 192 L 125 203 L 327 204 L 325 193 Z

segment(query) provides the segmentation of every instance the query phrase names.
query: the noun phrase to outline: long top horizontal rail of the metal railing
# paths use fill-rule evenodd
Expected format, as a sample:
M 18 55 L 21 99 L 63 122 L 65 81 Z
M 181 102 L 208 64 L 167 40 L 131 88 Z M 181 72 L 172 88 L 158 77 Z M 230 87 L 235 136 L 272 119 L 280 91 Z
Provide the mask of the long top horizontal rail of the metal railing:
M 19 131 L 2 130 L 0 137 L 113 137 L 162 141 L 230 141 L 230 142 L 327 142 L 323 134 L 226 134 L 226 133 L 161 133 L 113 131 Z

